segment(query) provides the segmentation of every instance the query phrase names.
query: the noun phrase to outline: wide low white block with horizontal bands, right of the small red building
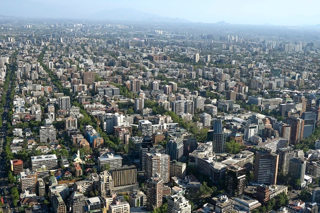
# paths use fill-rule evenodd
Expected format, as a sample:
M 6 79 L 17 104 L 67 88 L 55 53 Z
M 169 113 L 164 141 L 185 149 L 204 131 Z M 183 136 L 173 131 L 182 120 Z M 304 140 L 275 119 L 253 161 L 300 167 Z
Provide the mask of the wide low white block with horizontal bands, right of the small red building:
M 38 169 L 45 165 L 48 170 L 55 170 L 58 168 L 58 159 L 55 154 L 32 156 L 31 165 L 32 169 Z

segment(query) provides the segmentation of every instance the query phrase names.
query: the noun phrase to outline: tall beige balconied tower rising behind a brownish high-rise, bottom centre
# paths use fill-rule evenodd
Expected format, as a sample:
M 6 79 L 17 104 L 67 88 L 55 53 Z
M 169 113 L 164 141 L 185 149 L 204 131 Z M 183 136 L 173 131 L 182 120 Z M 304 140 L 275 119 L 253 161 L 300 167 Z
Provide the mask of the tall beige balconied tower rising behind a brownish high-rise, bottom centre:
M 161 153 L 147 153 L 146 177 L 159 175 L 165 183 L 169 182 L 170 156 Z

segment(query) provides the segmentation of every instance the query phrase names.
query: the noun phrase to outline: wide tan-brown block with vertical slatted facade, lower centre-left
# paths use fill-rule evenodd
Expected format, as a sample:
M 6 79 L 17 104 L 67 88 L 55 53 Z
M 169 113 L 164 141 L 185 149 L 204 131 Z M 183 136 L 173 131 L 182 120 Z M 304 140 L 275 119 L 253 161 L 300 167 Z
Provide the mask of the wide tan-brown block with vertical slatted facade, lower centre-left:
M 134 185 L 137 183 L 135 165 L 125 165 L 123 167 L 115 168 L 112 169 L 110 173 L 114 187 Z

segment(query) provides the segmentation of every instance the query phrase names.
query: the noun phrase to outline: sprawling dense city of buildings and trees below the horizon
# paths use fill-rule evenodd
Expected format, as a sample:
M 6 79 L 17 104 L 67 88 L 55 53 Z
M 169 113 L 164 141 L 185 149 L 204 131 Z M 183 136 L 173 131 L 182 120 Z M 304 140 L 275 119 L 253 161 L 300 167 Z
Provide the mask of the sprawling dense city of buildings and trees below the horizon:
M 0 28 L 0 211 L 318 212 L 319 26 Z

